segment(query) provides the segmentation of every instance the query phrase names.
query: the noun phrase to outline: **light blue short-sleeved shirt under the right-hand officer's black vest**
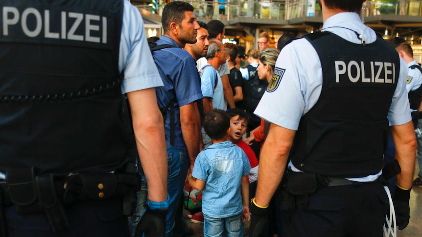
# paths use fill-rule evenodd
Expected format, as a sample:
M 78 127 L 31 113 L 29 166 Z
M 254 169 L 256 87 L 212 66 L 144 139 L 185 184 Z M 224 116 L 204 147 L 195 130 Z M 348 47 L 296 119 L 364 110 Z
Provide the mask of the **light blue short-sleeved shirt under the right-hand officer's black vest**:
M 332 32 L 352 43 L 361 43 L 354 31 L 361 34 L 366 43 L 376 40 L 375 31 L 364 25 L 357 13 L 352 12 L 339 13 L 328 18 L 322 31 Z M 283 128 L 297 130 L 302 116 L 316 104 L 321 94 L 321 62 L 314 47 L 306 39 L 299 39 L 281 50 L 276 62 L 275 71 L 277 70 L 283 71 L 279 79 L 281 81 L 274 91 L 264 93 L 255 114 Z M 402 125 L 411 120 L 406 78 L 407 65 L 400 58 L 399 81 L 387 116 L 390 126 Z M 291 163 L 289 167 L 299 172 Z M 380 174 L 381 171 L 351 180 L 374 181 Z

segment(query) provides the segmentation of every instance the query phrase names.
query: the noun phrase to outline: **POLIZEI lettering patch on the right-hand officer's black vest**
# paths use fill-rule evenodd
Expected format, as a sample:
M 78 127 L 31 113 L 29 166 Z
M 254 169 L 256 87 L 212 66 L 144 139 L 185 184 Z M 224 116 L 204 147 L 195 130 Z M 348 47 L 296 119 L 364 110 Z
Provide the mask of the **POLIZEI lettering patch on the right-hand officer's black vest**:
M 387 61 L 330 60 L 333 79 L 330 86 L 369 86 L 370 84 L 396 84 L 396 64 Z M 331 72 L 331 73 L 332 73 Z

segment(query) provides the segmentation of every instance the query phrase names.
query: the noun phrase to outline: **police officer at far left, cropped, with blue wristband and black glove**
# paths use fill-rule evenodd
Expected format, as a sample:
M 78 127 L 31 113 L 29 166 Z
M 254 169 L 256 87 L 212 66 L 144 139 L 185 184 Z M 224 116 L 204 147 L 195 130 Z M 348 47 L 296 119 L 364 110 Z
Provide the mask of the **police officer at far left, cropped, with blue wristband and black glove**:
M 138 232 L 164 236 L 163 84 L 138 9 L 126 0 L 0 7 L 0 236 L 129 236 L 135 152 L 151 187 Z

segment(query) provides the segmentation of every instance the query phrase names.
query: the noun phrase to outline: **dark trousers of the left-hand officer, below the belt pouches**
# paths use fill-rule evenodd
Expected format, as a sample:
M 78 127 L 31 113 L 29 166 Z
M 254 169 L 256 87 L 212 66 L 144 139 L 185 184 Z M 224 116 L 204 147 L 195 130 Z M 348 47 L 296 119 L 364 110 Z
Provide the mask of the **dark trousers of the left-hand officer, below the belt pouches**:
M 65 205 L 70 229 L 53 232 L 44 213 L 18 215 L 16 207 L 5 207 L 9 237 L 129 237 L 122 199 L 82 201 Z

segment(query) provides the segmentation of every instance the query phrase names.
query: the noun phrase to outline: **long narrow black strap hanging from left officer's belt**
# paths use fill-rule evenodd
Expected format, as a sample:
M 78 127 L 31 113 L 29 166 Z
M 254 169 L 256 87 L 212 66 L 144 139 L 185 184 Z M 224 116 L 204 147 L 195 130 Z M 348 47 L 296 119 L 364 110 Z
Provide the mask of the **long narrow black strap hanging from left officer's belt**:
M 35 178 L 38 201 L 43 207 L 53 231 L 69 228 L 68 219 L 62 203 L 58 200 L 52 174 L 40 175 Z

